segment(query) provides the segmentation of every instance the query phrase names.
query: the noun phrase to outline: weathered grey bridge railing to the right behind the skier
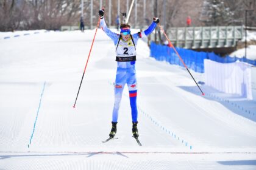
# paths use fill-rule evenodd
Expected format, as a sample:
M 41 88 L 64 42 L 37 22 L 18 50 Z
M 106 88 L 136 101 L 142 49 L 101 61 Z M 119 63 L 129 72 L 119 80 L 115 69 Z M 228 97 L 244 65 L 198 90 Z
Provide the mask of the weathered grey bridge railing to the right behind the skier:
M 174 46 L 184 49 L 235 47 L 243 38 L 243 26 L 177 27 L 166 33 Z M 151 39 L 154 40 L 154 34 Z

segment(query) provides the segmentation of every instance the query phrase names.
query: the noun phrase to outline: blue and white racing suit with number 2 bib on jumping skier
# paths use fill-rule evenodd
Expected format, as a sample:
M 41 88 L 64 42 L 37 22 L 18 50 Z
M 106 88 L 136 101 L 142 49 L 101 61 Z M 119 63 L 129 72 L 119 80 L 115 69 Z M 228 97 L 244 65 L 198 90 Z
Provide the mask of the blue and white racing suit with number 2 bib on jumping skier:
M 104 18 L 101 19 L 101 29 L 109 36 L 116 46 L 116 80 L 115 80 L 115 104 L 113 108 L 112 121 L 118 121 L 118 110 L 125 84 L 128 86 L 130 107 L 132 109 L 132 122 L 137 122 L 137 78 L 135 70 L 136 46 L 138 39 L 148 36 L 156 27 L 152 22 L 147 30 L 132 34 L 127 41 L 121 38 L 121 35 L 113 33 L 105 24 Z

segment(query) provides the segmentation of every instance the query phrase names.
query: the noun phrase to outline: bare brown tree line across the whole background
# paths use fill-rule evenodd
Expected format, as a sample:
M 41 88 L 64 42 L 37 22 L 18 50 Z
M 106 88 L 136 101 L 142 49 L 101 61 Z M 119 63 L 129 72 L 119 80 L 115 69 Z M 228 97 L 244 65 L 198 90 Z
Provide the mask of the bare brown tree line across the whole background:
M 108 17 L 108 2 L 102 0 Z M 121 12 L 126 12 L 127 1 L 120 0 Z M 0 0 L 0 31 L 48 29 L 58 30 L 62 25 L 79 25 L 81 0 Z M 118 0 L 111 1 L 111 23 L 115 25 Z M 144 12 L 146 2 L 146 12 Z M 84 23 L 90 26 L 90 3 L 84 0 Z M 100 0 L 93 1 L 93 25 L 98 20 Z M 163 10 L 165 9 L 165 10 Z M 185 19 L 191 16 L 192 26 L 204 25 L 242 25 L 245 24 L 245 10 L 247 25 L 256 26 L 256 0 L 137 0 L 137 13 L 133 10 L 130 24 L 142 27 L 151 22 L 157 12 L 165 29 L 168 27 L 186 26 Z M 137 20 L 135 21 L 135 15 Z M 146 16 L 146 18 L 144 18 Z M 165 21 L 165 23 L 163 23 Z

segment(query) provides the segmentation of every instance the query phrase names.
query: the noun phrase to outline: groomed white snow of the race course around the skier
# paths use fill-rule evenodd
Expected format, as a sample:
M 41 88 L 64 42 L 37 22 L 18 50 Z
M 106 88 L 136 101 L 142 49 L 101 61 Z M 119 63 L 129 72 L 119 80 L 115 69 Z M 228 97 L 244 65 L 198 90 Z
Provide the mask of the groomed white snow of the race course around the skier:
M 114 101 L 112 41 L 98 30 L 74 109 L 95 30 L 30 32 L 9 39 L 0 33 L 0 169 L 256 168 L 256 101 L 204 85 L 202 96 L 186 69 L 150 58 L 143 41 L 137 47 L 143 146 L 131 137 L 127 87 L 118 139 L 102 143 Z M 191 73 L 204 81 L 204 74 Z

